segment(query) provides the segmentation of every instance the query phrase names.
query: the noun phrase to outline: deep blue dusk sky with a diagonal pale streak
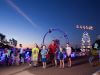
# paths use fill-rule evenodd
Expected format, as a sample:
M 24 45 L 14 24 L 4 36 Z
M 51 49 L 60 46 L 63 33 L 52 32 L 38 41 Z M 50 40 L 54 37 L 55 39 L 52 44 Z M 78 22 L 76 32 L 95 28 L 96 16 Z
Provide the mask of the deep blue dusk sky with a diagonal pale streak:
M 99 0 L 0 0 L 0 33 L 19 43 L 41 44 L 49 28 L 67 33 L 71 44 L 79 44 L 82 33 L 76 25 L 92 25 L 88 31 L 92 41 L 100 34 Z M 46 37 L 60 37 L 53 32 Z

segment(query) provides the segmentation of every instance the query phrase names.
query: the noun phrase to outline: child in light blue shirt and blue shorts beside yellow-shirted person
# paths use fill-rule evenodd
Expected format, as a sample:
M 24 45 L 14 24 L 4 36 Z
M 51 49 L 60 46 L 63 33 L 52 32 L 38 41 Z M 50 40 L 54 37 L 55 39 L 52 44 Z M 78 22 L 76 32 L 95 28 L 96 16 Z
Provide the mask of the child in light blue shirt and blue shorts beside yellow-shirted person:
M 41 56 L 42 56 L 42 63 L 43 63 L 43 68 L 46 68 L 46 55 L 48 54 L 48 51 L 46 50 L 46 46 L 43 45 L 42 46 L 42 50 L 41 50 Z

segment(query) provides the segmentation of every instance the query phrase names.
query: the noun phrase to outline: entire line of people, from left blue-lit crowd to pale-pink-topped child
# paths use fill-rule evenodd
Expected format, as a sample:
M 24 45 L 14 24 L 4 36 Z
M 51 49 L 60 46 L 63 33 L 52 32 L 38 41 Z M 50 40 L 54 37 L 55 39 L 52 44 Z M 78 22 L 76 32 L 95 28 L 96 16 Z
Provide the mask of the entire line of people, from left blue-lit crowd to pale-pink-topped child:
M 47 62 L 50 61 L 51 64 L 57 66 L 60 64 L 60 68 L 64 68 L 64 62 L 68 59 L 68 67 L 71 67 L 71 47 L 66 44 L 66 47 L 57 46 L 53 41 L 51 45 L 47 48 L 46 45 L 42 45 L 41 48 L 37 44 L 32 49 L 24 50 L 22 44 L 20 48 L 7 49 L 5 48 L 4 53 L 0 54 L 0 57 L 5 59 L 7 64 L 16 64 L 27 62 L 30 66 L 38 66 L 39 58 L 45 69 Z M 3 54 L 5 55 L 3 57 Z M 1 60 L 1 58 L 0 58 Z M 0 61 L 1 62 L 1 61 Z

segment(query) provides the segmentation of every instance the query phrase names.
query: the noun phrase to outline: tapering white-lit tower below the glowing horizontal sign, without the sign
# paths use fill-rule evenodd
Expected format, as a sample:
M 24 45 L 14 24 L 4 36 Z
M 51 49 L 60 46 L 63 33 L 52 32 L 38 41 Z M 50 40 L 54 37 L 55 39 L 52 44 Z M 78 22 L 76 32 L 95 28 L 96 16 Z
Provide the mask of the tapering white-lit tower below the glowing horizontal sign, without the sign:
M 87 32 L 83 33 L 81 41 L 82 41 L 82 45 L 81 45 L 82 49 L 91 48 L 91 39 L 90 39 L 90 36 L 89 36 L 89 34 Z

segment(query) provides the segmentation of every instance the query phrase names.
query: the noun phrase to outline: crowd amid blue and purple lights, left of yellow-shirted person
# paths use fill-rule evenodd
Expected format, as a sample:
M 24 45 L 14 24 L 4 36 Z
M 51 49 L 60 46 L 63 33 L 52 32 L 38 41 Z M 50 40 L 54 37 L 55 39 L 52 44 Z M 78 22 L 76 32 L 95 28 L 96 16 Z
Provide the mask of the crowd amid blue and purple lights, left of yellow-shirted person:
M 21 63 L 31 61 L 31 49 L 20 48 L 1 48 L 0 49 L 0 64 L 20 65 Z

